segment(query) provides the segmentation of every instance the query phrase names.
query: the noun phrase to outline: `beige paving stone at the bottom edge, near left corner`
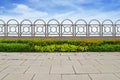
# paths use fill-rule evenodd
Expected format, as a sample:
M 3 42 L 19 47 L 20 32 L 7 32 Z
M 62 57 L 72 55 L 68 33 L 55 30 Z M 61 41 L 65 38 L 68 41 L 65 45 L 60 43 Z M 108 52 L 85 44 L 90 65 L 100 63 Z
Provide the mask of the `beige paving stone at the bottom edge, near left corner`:
M 34 74 L 9 74 L 3 80 L 31 80 Z

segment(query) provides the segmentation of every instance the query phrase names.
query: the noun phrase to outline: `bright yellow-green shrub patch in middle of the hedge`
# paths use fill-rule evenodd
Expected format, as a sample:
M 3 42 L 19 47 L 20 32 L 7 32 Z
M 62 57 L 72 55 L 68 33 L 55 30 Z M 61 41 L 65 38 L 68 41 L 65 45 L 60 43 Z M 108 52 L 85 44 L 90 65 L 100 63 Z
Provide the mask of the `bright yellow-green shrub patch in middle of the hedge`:
M 87 51 L 87 46 L 75 46 L 70 44 L 62 45 L 48 45 L 48 46 L 35 46 L 35 51 L 38 52 L 78 52 Z

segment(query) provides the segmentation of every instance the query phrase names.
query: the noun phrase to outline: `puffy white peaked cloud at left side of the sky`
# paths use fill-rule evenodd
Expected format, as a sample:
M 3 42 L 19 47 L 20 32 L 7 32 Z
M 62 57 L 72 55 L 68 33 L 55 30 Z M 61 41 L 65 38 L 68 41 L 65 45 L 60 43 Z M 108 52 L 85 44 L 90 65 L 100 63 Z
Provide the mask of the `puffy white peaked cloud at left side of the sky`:
M 15 19 L 34 19 L 34 18 L 45 18 L 48 13 L 42 12 L 39 10 L 32 9 L 24 4 L 14 4 L 16 7 L 14 9 L 8 10 L 9 13 L 13 13 L 15 15 L 1 15 L 1 18 L 7 19 L 7 18 L 15 18 Z

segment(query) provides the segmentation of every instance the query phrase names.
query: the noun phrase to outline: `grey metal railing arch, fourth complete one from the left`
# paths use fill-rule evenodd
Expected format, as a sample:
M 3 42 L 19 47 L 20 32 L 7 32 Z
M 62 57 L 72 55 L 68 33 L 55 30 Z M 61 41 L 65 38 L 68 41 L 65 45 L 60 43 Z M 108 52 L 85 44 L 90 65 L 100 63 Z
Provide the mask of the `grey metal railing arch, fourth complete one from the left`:
M 56 19 L 51 19 L 47 23 L 48 36 L 60 36 L 60 23 Z

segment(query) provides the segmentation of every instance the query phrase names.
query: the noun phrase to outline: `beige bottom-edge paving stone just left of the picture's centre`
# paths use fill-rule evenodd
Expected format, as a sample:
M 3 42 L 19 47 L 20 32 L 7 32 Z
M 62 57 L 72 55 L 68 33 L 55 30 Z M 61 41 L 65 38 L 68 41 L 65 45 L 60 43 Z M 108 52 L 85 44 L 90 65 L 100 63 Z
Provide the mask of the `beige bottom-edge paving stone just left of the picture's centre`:
M 61 80 L 61 75 L 36 74 L 33 80 Z

